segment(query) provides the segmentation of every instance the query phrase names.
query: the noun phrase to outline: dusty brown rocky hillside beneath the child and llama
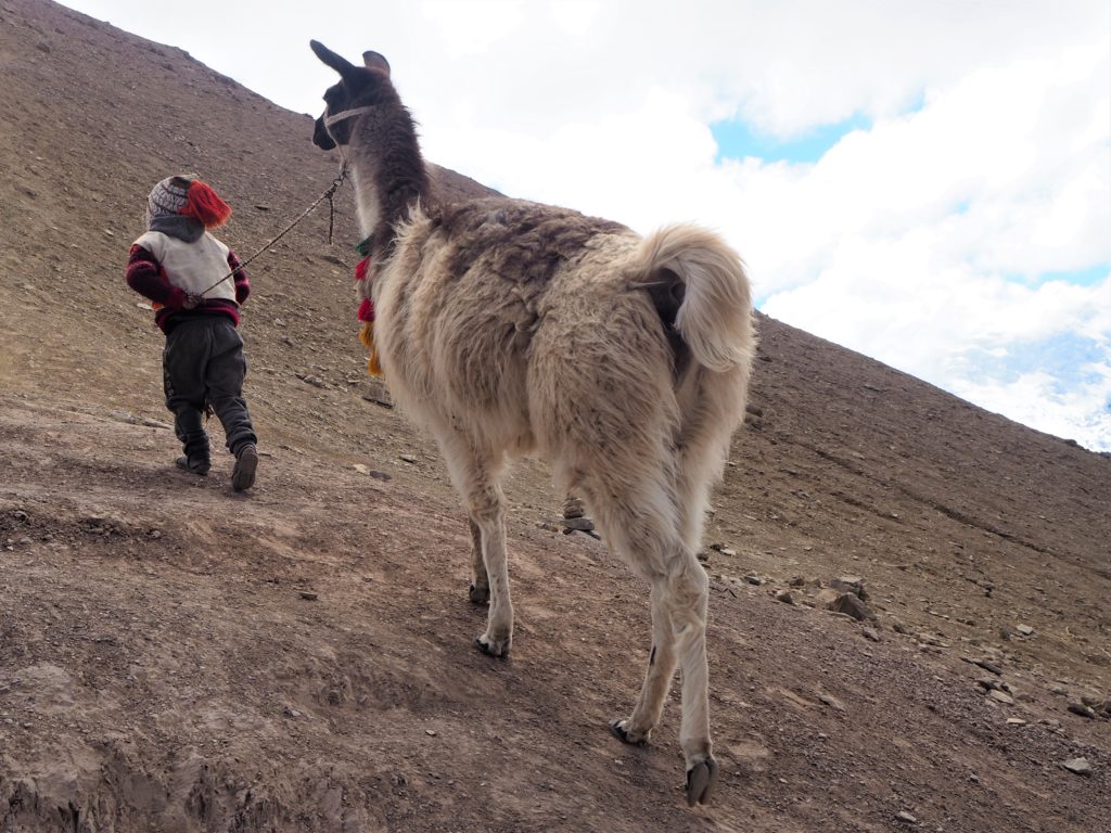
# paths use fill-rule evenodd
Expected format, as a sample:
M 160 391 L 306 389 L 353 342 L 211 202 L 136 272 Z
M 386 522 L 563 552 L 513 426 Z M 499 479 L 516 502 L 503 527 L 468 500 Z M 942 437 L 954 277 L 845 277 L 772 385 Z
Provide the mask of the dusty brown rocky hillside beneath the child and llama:
M 44 1 L 0 0 L 0 831 L 1109 830 L 1111 721 L 1068 711 L 1111 695 L 1107 458 L 761 319 L 707 532 L 722 780 L 688 810 L 677 703 L 650 747 L 605 731 L 645 588 L 552 531 L 539 463 L 514 654 L 471 648 L 443 466 L 366 398 L 350 192 L 334 247 L 322 210 L 252 270 L 258 488 L 172 468 L 122 280 L 144 195 L 203 173 L 250 254 L 334 175 L 310 119 Z M 875 622 L 823 609 L 845 574 Z

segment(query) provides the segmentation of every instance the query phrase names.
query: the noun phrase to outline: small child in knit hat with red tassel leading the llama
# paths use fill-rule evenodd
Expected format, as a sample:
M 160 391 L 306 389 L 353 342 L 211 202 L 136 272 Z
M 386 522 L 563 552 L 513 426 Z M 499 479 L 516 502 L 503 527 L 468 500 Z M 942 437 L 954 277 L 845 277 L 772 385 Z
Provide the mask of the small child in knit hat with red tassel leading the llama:
M 166 333 L 162 378 L 166 407 L 184 446 L 177 465 L 208 474 L 212 465 L 204 407 L 223 424 L 228 450 L 236 455 L 231 485 L 237 492 L 254 484 L 258 442 L 243 399 L 247 359 L 239 305 L 251 291 L 234 253 L 208 229 L 222 225 L 231 208 L 196 177 L 169 177 L 150 192 L 148 231 L 131 245 L 127 281 L 152 301 L 154 323 Z M 217 284 L 217 285 L 212 285 Z

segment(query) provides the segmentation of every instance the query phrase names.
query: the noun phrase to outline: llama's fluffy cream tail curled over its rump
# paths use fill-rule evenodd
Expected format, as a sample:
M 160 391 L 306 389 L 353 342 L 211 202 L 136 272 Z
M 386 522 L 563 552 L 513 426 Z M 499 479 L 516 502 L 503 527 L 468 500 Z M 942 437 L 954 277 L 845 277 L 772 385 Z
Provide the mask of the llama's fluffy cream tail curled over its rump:
M 678 304 L 674 328 L 694 361 L 718 372 L 751 363 L 752 292 L 737 252 L 705 229 L 669 225 L 647 237 L 639 254 L 643 285 L 662 287 Z

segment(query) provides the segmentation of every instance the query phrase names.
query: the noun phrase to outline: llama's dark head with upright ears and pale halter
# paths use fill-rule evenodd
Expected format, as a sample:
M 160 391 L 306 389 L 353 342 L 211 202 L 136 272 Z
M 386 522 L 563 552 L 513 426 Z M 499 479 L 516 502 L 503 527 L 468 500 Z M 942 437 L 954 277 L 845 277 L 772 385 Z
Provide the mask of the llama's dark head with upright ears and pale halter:
M 309 41 L 317 58 L 340 73 L 340 81 L 324 92 L 324 112 L 317 119 L 312 142 L 323 150 L 347 144 L 351 137 L 352 118 L 336 119 L 352 110 L 359 113 L 384 103 L 397 103 L 398 93 L 390 81 L 390 64 L 378 52 L 362 53 L 362 67 L 336 54 L 320 41 Z M 357 113 L 358 114 L 358 113 Z

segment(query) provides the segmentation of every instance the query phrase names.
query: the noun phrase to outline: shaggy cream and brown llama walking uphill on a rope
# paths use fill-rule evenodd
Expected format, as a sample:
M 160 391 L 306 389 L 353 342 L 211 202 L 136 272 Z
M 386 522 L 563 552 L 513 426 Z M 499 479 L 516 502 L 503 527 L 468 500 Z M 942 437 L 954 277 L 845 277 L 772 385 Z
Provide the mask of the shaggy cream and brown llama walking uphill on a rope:
M 311 46 L 340 76 L 313 142 L 339 147 L 350 167 L 381 368 L 436 438 L 467 509 L 470 599 L 490 605 L 476 645 L 509 653 L 500 480 L 510 459 L 540 455 L 651 588 L 648 671 L 632 713 L 610 729 L 647 743 L 678 665 L 687 801 L 705 803 L 718 764 L 697 552 L 755 351 L 740 258 L 691 225 L 641 238 L 523 200 L 437 201 L 386 59 L 368 51 L 358 67 Z

